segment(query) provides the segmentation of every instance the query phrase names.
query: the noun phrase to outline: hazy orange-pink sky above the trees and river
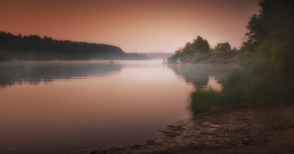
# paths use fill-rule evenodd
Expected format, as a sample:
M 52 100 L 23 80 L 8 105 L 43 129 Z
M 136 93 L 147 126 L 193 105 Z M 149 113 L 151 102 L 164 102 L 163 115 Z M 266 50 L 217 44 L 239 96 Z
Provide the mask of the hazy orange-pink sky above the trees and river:
M 258 0 L 0 0 L 0 31 L 173 53 L 197 36 L 239 47 Z

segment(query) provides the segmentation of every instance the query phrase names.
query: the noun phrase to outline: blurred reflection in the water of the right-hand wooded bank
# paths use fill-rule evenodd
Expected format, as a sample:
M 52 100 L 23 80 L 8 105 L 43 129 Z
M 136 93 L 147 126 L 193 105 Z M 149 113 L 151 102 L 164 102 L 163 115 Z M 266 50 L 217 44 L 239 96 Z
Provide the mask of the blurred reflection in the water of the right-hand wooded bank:
M 186 83 L 192 83 L 195 88 L 206 87 L 210 75 L 220 80 L 228 70 L 234 67 L 234 65 L 218 64 L 168 64 L 168 68 L 184 78 Z

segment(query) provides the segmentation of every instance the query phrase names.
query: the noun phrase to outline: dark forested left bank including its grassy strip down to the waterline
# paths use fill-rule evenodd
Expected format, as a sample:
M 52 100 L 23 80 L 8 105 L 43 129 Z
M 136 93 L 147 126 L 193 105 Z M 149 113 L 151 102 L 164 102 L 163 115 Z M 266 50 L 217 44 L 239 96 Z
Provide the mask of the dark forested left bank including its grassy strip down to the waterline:
M 0 32 L 0 59 L 49 60 L 52 56 L 69 60 L 148 59 L 144 54 L 125 53 L 121 48 L 107 44 L 62 41 L 47 36 L 41 38 L 38 35 L 18 34 L 15 36 L 11 33 Z

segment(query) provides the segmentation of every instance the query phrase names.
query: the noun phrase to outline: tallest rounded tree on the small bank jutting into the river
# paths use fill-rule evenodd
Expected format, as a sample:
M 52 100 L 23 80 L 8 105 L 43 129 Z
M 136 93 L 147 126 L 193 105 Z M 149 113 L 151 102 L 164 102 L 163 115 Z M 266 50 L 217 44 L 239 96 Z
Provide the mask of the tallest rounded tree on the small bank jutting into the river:
M 201 53 L 205 54 L 209 52 L 209 44 L 208 41 L 200 37 L 199 35 L 197 36 L 196 40 L 193 40 L 193 43 L 190 45 L 190 49 L 194 53 Z

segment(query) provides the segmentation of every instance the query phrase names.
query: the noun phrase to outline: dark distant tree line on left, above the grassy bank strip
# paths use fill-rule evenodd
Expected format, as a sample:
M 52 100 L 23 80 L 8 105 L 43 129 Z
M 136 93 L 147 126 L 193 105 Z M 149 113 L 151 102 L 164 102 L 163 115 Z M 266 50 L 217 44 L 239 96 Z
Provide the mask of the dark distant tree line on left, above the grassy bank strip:
M 30 53 L 67 53 L 85 54 L 89 58 L 104 59 L 148 59 L 146 55 L 125 53 L 117 46 L 56 40 L 48 36 L 41 38 L 38 35 L 21 36 L 10 32 L 0 32 L 0 52 L 18 51 Z

